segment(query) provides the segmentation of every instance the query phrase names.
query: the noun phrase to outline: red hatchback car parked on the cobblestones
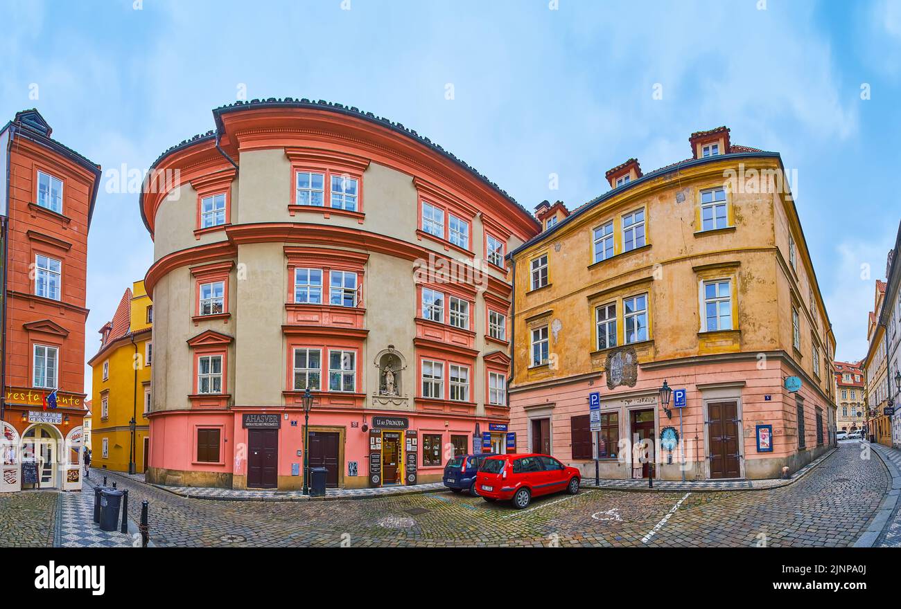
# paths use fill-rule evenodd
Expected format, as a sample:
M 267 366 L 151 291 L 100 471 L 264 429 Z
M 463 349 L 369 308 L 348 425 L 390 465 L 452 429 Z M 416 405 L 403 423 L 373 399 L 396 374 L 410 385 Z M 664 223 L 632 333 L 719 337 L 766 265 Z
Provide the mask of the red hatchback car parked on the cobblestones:
M 566 490 L 578 493 L 581 475 L 547 454 L 501 454 L 488 457 L 478 469 L 478 494 L 486 501 L 513 499 L 523 509 L 532 497 Z

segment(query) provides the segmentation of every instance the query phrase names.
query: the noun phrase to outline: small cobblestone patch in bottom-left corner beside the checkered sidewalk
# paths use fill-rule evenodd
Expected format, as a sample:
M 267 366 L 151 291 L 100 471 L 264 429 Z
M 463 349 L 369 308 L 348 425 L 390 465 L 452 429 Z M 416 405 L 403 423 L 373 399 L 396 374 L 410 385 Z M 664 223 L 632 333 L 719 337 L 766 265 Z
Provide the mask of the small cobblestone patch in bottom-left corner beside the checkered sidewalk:
M 51 490 L 0 494 L 0 547 L 50 548 L 58 502 Z

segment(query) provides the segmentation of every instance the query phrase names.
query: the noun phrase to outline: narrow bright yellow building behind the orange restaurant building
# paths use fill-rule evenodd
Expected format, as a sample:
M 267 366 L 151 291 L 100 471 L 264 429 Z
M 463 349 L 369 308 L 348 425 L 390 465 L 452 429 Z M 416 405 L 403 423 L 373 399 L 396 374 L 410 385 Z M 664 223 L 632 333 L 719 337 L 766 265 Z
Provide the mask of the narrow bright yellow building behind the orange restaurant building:
M 144 282 L 134 282 L 125 290 L 113 320 L 100 330 L 100 350 L 88 362 L 94 379 L 94 467 L 132 473 L 146 469 L 152 322 L 153 305 Z

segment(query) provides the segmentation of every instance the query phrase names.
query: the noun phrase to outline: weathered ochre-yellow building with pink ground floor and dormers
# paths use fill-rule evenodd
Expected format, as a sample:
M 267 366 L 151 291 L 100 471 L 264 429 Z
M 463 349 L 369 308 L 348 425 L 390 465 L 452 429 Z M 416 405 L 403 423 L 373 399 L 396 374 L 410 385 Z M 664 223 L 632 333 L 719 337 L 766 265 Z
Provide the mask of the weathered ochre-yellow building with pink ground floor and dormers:
M 834 337 L 781 159 L 725 128 L 689 141 L 651 174 L 614 167 L 510 255 L 519 452 L 591 478 L 597 458 L 607 479 L 764 479 L 833 445 Z M 685 395 L 669 414 L 664 381 Z

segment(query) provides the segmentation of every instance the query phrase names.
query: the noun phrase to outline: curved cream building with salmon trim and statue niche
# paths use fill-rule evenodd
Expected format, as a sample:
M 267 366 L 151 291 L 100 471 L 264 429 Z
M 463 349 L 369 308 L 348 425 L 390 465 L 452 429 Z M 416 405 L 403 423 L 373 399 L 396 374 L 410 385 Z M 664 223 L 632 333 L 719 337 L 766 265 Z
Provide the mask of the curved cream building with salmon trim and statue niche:
M 507 443 L 512 285 L 537 234 L 496 185 L 337 104 L 237 103 L 169 149 L 154 240 L 150 480 L 300 488 L 441 478 Z M 514 441 L 513 441 L 514 443 Z

